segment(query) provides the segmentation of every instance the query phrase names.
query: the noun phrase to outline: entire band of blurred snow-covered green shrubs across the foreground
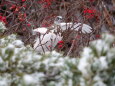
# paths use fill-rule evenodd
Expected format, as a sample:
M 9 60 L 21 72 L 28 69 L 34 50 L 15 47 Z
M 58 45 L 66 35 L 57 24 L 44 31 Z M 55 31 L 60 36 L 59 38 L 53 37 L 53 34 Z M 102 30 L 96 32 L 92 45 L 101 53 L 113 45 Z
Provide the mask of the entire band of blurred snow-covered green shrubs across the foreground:
M 55 51 L 38 55 L 16 35 L 0 39 L 0 86 L 114 86 L 115 41 L 110 34 L 84 48 L 80 58 Z

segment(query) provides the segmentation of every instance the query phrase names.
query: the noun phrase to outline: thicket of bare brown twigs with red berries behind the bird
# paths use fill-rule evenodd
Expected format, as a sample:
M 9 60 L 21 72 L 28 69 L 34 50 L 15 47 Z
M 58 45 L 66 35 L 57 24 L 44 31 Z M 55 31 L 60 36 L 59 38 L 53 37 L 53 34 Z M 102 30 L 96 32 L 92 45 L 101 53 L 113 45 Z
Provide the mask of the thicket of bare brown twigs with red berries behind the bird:
M 63 41 L 57 48 L 67 55 L 79 55 L 84 46 L 100 38 L 103 27 L 115 34 L 113 0 L 1 0 L 0 21 L 4 22 L 7 31 L 0 36 L 17 33 L 26 44 L 33 44 L 32 30 L 38 27 L 50 28 L 56 16 L 63 16 L 63 22 L 85 23 L 93 28 L 92 33 L 60 32 Z M 109 4 L 109 5 L 108 5 Z M 109 7 L 108 7 L 109 6 Z M 105 29 L 105 28 L 104 28 Z M 78 34 L 76 36 L 75 34 Z M 74 40 L 74 47 L 72 43 Z M 49 46 L 51 47 L 51 46 Z M 71 50 L 70 50 L 71 48 Z

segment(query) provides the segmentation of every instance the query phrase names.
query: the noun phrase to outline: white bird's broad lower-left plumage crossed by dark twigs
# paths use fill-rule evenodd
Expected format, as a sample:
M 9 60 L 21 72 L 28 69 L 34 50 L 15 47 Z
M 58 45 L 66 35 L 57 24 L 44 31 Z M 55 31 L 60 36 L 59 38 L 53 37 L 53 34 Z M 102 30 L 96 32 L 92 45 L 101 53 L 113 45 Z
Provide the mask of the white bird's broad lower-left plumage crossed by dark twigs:
M 48 32 L 47 28 L 37 28 L 34 30 L 34 32 L 39 32 L 41 35 L 36 38 L 34 49 L 38 53 L 45 53 L 47 51 L 51 51 L 54 49 L 54 47 L 57 45 L 58 41 L 62 39 L 60 35 L 56 35 L 53 33 L 54 30 L 51 30 Z

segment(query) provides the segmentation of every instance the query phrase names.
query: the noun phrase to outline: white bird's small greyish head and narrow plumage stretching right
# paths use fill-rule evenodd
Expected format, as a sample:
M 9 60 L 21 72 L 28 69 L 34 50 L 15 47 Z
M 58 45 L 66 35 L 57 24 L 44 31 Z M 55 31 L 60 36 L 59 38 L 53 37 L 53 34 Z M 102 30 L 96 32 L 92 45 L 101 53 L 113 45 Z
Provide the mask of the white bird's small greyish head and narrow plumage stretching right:
M 57 16 L 54 21 L 54 24 L 59 26 L 62 31 L 65 31 L 66 29 L 79 31 L 81 29 L 82 33 L 91 33 L 92 32 L 92 28 L 87 24 L 72 23 L 72 22 L 65 23 L 65 22 L 62 22 L 62 20 L 63 20 L 62 16 Z

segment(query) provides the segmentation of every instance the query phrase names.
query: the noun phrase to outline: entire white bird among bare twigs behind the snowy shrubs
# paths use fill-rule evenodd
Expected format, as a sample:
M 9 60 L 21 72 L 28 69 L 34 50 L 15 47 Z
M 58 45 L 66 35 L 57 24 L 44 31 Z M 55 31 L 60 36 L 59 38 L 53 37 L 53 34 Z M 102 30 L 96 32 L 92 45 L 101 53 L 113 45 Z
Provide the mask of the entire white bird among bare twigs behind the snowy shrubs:
M 62 22 L 62 16 L 57 16 L 55 18 L 54 25 L 52 26 L 53 30 L 48 30 L 48 28 L 46 28 L 46 27 L 40 27 L 40 28 L 33 30 L 34 35 L 39 33 L 39 35 L 36 37 L 36 40 L 34 43 L 34 49 L 38 53 L 43 54 L 47 51 L 54 50 L 58 41 L 62 40 L 62 37 L 60 34 L 54 33 L 54 31 L 57 31 L 58 27 L 62 31 L 65 31 L 66 29 L 70 28 L 71 30 L 75 30 L 75 31 L 79 31 L 79 29 L 81 29 L 81 32 L 84 34 L 92 32 L 92 28 L 87 24 L 65 23 L 65 22 Z

